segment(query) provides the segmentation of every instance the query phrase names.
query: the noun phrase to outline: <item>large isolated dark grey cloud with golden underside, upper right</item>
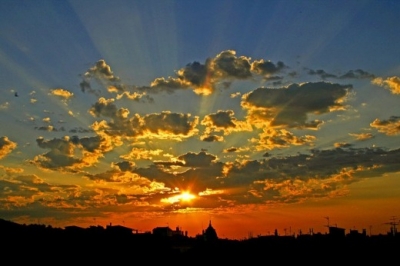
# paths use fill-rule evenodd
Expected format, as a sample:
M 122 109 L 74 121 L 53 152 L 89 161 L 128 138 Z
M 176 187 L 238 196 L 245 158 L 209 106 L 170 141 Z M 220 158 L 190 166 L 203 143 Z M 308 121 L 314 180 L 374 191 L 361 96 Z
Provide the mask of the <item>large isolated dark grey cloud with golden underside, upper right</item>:
M 242 98 L 249 122 L 258 127 L 316 129 L 322 121 L 307 121 L 308 114 L 344 110 L 351 85 L 316 82 L 292 84 L 280 89 L 258 88 Z

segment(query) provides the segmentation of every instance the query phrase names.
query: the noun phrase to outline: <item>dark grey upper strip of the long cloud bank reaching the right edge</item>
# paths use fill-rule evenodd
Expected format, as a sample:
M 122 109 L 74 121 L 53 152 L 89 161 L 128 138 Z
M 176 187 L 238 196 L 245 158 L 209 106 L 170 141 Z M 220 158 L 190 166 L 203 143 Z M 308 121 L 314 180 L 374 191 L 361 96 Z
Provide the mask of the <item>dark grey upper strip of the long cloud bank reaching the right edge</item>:
M 373 166 L 376 167 L 375 174 L 379 176 L 400 169 L 400 165 L 396 164 L 396 157 L 399 154 L 399 149 L 392 151 L 372 148 L 311 150 L 310 154 L 298 154 L 283 158 L 270 157 L 270 159 L 260 161 L 235 163 L 227 178 L 235 179 L 236 175 L 245 174 L 251 176 L 252 181 L 270 178 L 278 180 L 325 179 L 340 174 L 344 168 L 363 172 Z

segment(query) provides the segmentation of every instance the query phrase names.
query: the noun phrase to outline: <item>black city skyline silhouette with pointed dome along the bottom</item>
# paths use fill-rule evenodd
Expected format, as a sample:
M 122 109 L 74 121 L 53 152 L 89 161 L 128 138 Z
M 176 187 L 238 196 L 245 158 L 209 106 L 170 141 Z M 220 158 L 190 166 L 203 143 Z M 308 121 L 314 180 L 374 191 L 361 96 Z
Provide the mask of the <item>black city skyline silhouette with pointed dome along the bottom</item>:
M 131 259 L 134 255 L 154 254 L 164 258 L 186 260 L 193 258 L 216 257 L 232 259 L 278 254 L 304 256 L 310 251 L 319 256 L 331 256 L 332 259 L 387 258 L 396 254 L 400 248 L 400 234 L 395 225 L 385 235 L 367 235 L 366 230 L 350 230 L 329 226 L 328 233 L 297 235 L 273 235 L 249 237 L 243 240 L 221 239 L 217 230 L 209 226 L 196 237 L 189 237 L 187 232 L 176 227 L 156 227 L 152 232 L 140 233 L 136 229 L 109 224 L 105 227 L 67 226 L 55 228 L 43 224 L 18 224 L 0 219 L 0 239 L 3 254 L 16 250 L 21 254 L 39 254 L 48 252 L 65 258 L 88 258 L 91 262 L 103 259 Z M 95 250 L 95 254 L 89 252 Z M 360 257 L 361 256 L 361 257 Z M 301 261 L 301 257 L 297 257 Z

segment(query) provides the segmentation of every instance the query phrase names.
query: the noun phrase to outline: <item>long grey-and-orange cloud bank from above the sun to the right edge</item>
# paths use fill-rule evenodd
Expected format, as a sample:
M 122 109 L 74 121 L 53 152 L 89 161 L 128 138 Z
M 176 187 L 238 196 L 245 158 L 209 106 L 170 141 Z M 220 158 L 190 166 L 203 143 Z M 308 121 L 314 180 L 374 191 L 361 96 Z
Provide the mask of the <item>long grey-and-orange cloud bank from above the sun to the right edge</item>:
M 215 196 L 213 207 L 227 207 L 229 204 L 221 200 L 238 205 L 274 204 L 340 196 L 346 193 L 350 183 L 400 170 L 396 163 L 400 150 L 339 146 L 332 150 L 311 150 L 309 154 L 226 163 L 209 153 L 186 153 L 178 157 L 179 161 L 157 162 L 133 172 L 171 189 L 177 187 L 204 197 Z M 190 168 L 172 173 L 169 171 L 172 166 Z M 201 207 L 204 202 L 200 199 L 196 204 Z

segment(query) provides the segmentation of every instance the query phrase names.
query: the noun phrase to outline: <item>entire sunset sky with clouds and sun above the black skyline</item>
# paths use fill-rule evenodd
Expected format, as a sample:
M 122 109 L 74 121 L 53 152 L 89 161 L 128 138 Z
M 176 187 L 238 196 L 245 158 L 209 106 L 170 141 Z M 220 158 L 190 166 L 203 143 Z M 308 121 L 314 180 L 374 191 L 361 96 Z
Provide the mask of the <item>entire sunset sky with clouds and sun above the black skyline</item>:
M 0 218 L 386 233 L 399 14 L 381 0 L 0 1 Z

